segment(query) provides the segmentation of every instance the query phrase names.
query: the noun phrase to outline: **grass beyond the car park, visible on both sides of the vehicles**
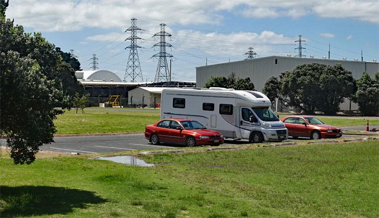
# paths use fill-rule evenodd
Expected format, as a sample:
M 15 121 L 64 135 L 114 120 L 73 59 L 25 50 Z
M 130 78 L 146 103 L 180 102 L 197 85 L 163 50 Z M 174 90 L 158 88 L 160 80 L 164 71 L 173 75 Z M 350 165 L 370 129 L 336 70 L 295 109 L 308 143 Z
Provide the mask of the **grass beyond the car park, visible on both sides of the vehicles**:
M 145 126 L 157 122 L 160 110 L 145 111 L 148 109 L 120 108 L 102 110 L 90 108 L 82 114 L 75 110 L 66 111 L 55 120 L 58 134 L 84 134 L 84 133 L 131 133 L 143 132 Z M 149 109 L 154 110 L 154 109 Z M 366 121 L 346 117 L 318 117 L 324 123 L 336 126 L 365 125 Z M 379 125 L 379 119 L 370 120 L 370 125 Z

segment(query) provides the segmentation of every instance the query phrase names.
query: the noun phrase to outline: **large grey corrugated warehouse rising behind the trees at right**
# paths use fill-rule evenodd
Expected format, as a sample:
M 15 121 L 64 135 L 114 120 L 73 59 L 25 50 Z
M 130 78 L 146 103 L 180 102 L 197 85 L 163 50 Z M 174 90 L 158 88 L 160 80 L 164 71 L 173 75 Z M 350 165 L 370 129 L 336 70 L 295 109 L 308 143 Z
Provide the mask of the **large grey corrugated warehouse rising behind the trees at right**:
M 248 60 L 219 63 L 196 67 L 196 86 L 204 87 L 211 77 L 228 77 L 234 72 L 236 77 L 250 78 L 254 83 L 255 89 L 262 91 L 262 88 L 268 78 L 278 77 L 281 72 L 292 70 L 296 66 L 306 63 L 321 63 L 325 65 L 335 65 L 341 63 L 342 66 L 351 71 L 355 79 L 361 77 L 362 72 L 366 71 L 373 77 L 375 72 L 379 71 L 379 63 L 375 60 L 357 61 L 357 60 L 333 60 L 333 59 L 317 59 L 317 58 L 300 58 L 290 56 L 268 56 Z M 280 102 L 273 103 L 277 111 L 288 111 L 288 107 L 283 107 Z M 345 100 L 341 104 L 341 110 L 358 110 L 358 106 Z

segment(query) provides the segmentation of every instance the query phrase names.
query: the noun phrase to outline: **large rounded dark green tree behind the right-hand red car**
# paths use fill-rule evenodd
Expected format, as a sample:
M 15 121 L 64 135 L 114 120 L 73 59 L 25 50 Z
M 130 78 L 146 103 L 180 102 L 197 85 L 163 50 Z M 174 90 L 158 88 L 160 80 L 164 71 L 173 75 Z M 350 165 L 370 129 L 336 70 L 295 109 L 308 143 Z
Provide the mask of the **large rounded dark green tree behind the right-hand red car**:
M 302 64 L 283 72 L 279 78 L 269 78 L 263 93 L 289 106 L 296 106 L 307 114 L 320 110 L 336 114 L 344 98 L 355 92 L 355 80 L 350 71 L 340 64 L 334 66 L 312 63 Z

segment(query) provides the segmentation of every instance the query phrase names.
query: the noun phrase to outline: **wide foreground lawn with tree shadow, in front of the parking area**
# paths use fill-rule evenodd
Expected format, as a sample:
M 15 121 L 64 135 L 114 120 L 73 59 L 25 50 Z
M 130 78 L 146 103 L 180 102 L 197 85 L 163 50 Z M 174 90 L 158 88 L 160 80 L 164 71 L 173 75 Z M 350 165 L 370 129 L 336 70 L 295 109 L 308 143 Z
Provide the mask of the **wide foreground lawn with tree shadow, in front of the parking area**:
M 127 154 L 127 153 L 124 153 Z M 377 141 L 160 154 L 0 158 L 0 217 L 378 217 Z

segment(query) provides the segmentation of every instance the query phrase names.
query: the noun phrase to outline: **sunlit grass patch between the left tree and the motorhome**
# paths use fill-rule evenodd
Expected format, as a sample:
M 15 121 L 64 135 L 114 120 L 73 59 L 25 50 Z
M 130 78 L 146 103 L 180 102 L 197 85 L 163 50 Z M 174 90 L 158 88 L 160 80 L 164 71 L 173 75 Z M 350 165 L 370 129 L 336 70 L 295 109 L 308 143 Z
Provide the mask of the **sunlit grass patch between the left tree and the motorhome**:
M 130 133 L 143 132 L 146 125 L 157 122 L 159 118 L 159 111 L 86 110 L 82 114 L 71 110 L 59 115 L 54 123 L 58 134 Z

